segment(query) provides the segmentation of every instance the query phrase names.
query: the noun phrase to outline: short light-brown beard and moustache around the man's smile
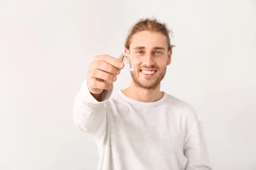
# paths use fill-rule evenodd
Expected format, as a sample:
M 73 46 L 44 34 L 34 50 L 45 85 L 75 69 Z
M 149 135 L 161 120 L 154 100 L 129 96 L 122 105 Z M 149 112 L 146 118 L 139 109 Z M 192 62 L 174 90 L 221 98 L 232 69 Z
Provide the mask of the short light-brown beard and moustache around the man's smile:
M 146 67 L 144 67 L 144 68 L 146 68 Z M 159 71 L 159 69 L 157 71 Z M 139 73 L 139 72 L 140 72 L 140 70 L 137 73 Z M 136 74 L 136 73 L 134 73 L 134 71 L 131 71 L 131 77 L 134 80 L 134 84 L 137 87 L 145 88 L 145 89 L 157 88 L 157 86 L 160 84 L 160 82 L 162 81 L 165 74 L 166 74 L 166 67 L 163 69 L 162 72 L 160 72 L 160 75 L 157 76 L 157 79 L 154 80 L 154 82 L 151 82 L 151 80 L 150 80 L 151 78 L 144 77 L 145 79 L 148 79 L 149 81 L 146 83 L 143 83 L 142 81 L 140 81 L 139 74 Z

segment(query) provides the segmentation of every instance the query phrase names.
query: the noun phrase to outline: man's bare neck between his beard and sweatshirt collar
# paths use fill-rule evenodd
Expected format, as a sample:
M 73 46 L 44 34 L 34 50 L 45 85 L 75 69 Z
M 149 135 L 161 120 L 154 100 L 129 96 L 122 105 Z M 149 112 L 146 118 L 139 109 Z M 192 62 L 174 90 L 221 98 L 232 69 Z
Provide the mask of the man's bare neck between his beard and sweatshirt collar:
M 122 93 L 140 102 L 155 102 L 163 97 L 163 92 L 160 91 L 160 84 L 153 89 L 146 89 L 132 83 L 128 88 L 122 90 Z

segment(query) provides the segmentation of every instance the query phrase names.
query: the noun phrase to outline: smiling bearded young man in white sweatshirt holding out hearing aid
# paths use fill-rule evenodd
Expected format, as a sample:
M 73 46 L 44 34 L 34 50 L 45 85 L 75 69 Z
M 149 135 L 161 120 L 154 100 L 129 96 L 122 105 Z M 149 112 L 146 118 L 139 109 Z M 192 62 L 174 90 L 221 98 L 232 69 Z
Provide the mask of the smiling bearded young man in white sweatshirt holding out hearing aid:
M 138 21 L 128 34 L 125 53 L 135 68 L 128 88 L 113 92 L 124 63 L 99 55 L 74 102 L 76 127 L 96 140 L 98 170 L 211 170 L 194 108 L 160 91 L 172 56 L 166 25 Z

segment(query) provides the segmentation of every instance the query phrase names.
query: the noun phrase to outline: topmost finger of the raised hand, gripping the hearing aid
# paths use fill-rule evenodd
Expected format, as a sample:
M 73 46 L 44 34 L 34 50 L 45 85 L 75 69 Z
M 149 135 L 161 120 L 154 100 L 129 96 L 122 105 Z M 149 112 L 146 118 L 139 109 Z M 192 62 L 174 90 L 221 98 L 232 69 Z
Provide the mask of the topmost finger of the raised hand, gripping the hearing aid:
M 122 69 L 125 66 L 125 63 L 122 62 L 120 59 L 116 59 L 115 57 L 112 57 L 110 55 L 99 55 L 94 57 L 93 61 L 95 60 L 102 60 L 119 69 Z

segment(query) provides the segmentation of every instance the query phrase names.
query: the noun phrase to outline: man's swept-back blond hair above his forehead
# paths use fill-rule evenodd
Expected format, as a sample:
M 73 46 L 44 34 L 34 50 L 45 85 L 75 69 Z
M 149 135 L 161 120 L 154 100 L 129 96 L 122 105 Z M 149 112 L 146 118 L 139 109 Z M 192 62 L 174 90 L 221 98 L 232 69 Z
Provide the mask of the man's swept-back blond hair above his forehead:
M 171 30 L 169 30 L 165 23 L 160 23 L 157 19 L 140 19 L 135 23 L 135 25 L 130 29 L 126 40 L 125 40 L 125 48 L 130 48 L 131 38 L 134 34 L 140 31 L 156 31 L 162 33 L 164 36 L 166 36 L 167 43 L 168 43 L 168 51 L 172 49 L 175 45 L 171 44 L 171 40 L 169 37 L 169 34 L 172 33 Z

